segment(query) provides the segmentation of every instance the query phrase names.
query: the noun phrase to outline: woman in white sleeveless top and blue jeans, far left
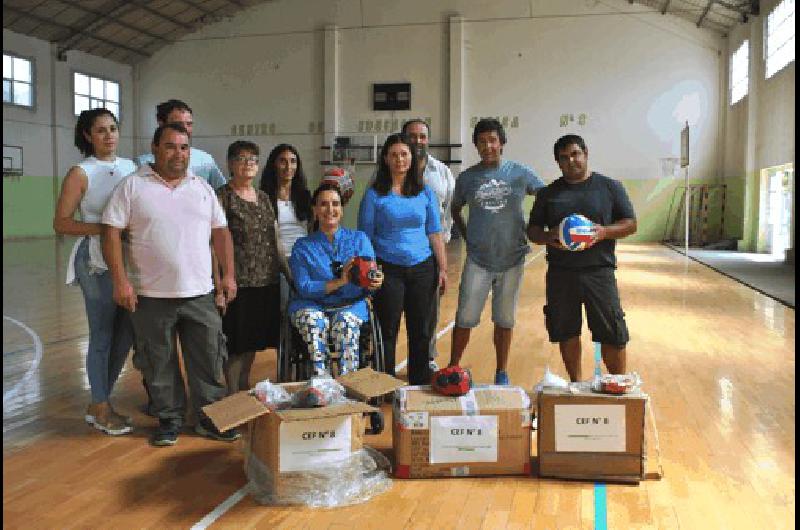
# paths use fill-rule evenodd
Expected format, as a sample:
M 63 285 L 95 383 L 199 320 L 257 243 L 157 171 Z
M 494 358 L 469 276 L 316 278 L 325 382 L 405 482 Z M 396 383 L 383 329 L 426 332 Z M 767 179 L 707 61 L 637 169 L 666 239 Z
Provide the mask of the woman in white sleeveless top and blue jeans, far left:
M 70 168 L 61 186 L 53 229 L 81 236 L 67 263 L 67 284 L 83 291 L 89 322 L 86 373 L 92 401 L 86 422 L 106 434 L 131 432 L 130 418 L 116 413 L 109 396 L 133 342 L 130 315 L 114 303 L 112 281 L 100 245 L 103 209 L 114 187 L 136 166 L 117 156 L 119 124 L 106 109 L 81 112 L 75 125 L 75 147 L 85 158 Z M 75 212 L 80 211 L 80 221 Z

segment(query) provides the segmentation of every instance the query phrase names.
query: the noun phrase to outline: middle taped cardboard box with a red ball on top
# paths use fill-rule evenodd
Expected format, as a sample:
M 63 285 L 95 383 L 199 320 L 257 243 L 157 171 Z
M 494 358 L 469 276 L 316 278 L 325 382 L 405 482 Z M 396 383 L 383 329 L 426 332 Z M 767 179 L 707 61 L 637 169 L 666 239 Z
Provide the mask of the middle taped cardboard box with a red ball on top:
M 393 446 L 399 478 L 527 475 L 531 462 L 527 394 L 476 386 L 461 397 L 430 386 L 395 391 Z

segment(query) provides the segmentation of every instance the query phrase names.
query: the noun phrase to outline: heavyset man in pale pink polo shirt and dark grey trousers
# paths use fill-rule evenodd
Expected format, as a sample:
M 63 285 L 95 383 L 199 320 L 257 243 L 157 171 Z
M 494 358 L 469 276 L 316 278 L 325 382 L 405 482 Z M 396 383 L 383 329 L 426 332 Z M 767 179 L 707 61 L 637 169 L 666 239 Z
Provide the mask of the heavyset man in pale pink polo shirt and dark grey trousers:
M 136 339 L 134 364 L 141 370 L 159 419 L 151 443 L 177 442 L 186 410 L 176 335 L 180 338 L 198 434 L 222 441 L 201 408 L 226 394 L 222 363 L 227 357 L 222 320 L 214 305 L 211 252 L 223 275 L 220 290 L 236 296 L 233 244 L 214 190 L 188 172 L 189 133 L 169 123 L 156 129 L 154 160 L 117 185 L 103 212 L 103 255 L 114 283 L 114 301 L 131 312 Z M 121 234 L 130 235 L 128 270 Z

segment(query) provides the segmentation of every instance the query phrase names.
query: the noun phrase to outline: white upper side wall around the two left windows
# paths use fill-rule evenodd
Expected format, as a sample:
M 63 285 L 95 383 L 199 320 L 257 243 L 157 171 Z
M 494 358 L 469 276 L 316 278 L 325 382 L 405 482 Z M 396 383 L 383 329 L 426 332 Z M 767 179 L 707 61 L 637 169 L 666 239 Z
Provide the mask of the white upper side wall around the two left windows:
M 76 70 L 120 83 L 119 154 L 131 156 L 133 77 L 130 66 L 77 51 L 67 52 L 66 61 L 57 61 L 49 42 L 7 29 L 3 30 L 3 50 L 29 57 L 34 62 L 35 107 L 28 110 L 3 105 L 3 143 L 23 147 L 25 175 L 63 177 L 69 167 L 82 158 L 73 144 L 76 117 L 72 112 L 72 72 Z

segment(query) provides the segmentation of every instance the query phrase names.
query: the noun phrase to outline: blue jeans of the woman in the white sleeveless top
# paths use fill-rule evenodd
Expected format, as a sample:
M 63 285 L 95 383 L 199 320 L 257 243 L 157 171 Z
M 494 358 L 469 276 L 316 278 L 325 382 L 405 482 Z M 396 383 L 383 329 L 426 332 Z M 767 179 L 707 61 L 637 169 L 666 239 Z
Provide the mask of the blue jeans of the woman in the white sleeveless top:
M 108 401 L 114 383 L 133 344 L 130 314 L 114 303 L 111 273 L 89 272 L 89 239 L 84 238 L 75 255 L 75 276 L 83 292 L 89 321 L 86 373 L 92 403 Z

